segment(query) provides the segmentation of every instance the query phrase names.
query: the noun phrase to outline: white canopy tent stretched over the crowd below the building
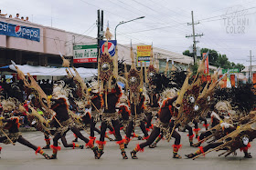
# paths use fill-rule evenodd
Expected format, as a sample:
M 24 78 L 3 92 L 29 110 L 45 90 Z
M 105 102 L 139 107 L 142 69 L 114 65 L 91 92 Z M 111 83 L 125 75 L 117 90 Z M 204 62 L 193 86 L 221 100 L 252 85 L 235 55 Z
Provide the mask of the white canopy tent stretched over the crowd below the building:
M 25 75 L 29 73 L 30 75 L 49 75 L 49 76 L 64 76 L 67 75 L 66 68 L 52 68 L 46 66 L 31 66 L 31 65 L 16 65 Z M 80 76 L 83 78 L 92 77 L 98 74 L 97 69 L 93 68 L 76 68 Z M 73 75 L 76 75 L 74 70 L 70 68 Z M 14 65 L 6 65 L 0 67 L 0 72 L 16 72 Z

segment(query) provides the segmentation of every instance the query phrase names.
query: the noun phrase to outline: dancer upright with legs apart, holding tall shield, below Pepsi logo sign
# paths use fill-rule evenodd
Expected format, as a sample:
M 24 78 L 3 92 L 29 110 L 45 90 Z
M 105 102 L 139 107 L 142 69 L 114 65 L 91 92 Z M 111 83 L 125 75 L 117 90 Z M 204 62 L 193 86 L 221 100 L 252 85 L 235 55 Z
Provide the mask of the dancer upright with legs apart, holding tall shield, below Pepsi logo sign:
M 100 83 L 100 92 L 102 93 L 102 98 L 104 100 L 104 111 L 101 116 L 101 137 L 100 141 L 97 141 L 97 144 L 99 145 L 98 157 L 100 158 L 103 154 L 103 148 L 106 144 L 104 138 L 107 126 L 112 125 L 117 140 L 116 143 L 120 146 L 123 159 L 128 159 L 124 151 L 123 138 L 122 135 L 120 135 L 120 117 L 116 111 L 116 105 L 118 104 L 122 95 L 122 90 L 117 85 L 117 79 L 123 79 L 124 81 L 126 80 L 118 75 L 117 48 L 115 49 L 114 56 L 111 56 L 108 52 L 108 43 L 112 37 L 109 26 L 107 26 L 105 37 L 107 41 L 104 44 L 104 53 L 101 55 L 99 54 L 100 56 L 98 60 L 98 80 Z

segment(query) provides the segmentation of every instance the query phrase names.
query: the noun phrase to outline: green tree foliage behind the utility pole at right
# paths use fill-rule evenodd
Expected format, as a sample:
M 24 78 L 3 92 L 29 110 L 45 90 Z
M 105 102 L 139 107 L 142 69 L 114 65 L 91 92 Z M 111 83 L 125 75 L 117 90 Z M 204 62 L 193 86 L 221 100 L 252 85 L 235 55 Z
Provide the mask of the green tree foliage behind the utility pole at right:
M 229 58 L 227 55 L 220 55 L 216 50 L 208 49 L 208 48 L 202 48 L 201 49 L 201 56 L 203 53 L 207 53 L 209 51 L 208 55 L 208 62 L 209 65 L 221 67 L 224 69 L 231 69 L 231 68 L 239 68 L 240 71 L 245 68 L 242 64 L 235 64 L 233 62 L 229 62 Z M 186 50 L 183 52 L 183 55 L 191 56 L 193 57 L 193 53 L 189 53 L 189 50 Z

